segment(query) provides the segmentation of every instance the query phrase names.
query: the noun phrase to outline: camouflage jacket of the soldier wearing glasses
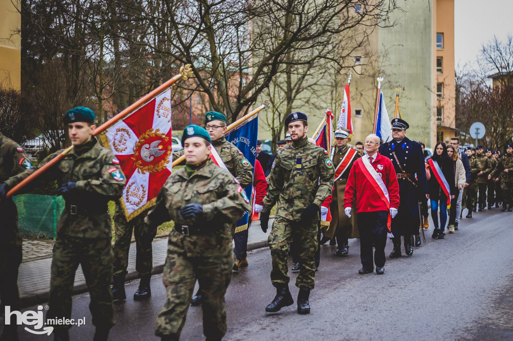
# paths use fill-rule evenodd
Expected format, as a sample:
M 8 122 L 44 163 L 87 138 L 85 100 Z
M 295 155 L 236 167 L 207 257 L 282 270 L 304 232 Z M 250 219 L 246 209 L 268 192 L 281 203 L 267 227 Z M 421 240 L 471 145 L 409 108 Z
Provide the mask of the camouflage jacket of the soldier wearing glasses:
M 253 166 L 244 157 L 244 154 L 233 143 L 222 138 L 212 141 L 212 145 L 223 160 L 228 171 L 246 188 L 253 183 Z M 173 160 L 184 155 L 184 150 L 173 153 Z

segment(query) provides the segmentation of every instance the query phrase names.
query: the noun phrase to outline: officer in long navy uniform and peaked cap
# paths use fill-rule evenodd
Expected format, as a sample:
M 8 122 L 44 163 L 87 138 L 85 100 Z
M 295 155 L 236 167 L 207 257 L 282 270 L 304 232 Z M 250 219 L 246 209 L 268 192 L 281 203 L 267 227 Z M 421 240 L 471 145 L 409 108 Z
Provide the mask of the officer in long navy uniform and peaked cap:
M 393 251 L 390 258 L 401 257 L 401 236 L 404 236 L 406 255 L 413 254 L 412 236 L 420 242 L 419 201 L 426 196 L 427 181 L 422 146 L 406 137 L 408 123 L 400 118 L 392 120 L 393 140 L 383 143 L 379 153 L 392 161 L 399 181 L 399 211 L 392 219 Z

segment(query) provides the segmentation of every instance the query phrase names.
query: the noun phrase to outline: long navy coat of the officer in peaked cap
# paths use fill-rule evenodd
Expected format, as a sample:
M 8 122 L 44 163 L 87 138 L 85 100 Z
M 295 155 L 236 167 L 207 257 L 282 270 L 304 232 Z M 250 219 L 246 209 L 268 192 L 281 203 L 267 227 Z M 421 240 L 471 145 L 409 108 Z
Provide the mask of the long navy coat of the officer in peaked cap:
M 400 174 L 403 172 L 392 152 L 396 153 L 404 173 L 413 175 L 410 178 L 411 181 L 405 178 L 398 179 L 400 204 L 396 218 L 392 219 L 392 235 L 394 237 L 416 235 L 420 227 L 419 201 L 426 196 L 427 192 L 422 146 L 419 142 L 407 137 L 400 144 L 392 140 L 380 146 L 379 153 L 389 158 L 396 168 L 396 173 Z

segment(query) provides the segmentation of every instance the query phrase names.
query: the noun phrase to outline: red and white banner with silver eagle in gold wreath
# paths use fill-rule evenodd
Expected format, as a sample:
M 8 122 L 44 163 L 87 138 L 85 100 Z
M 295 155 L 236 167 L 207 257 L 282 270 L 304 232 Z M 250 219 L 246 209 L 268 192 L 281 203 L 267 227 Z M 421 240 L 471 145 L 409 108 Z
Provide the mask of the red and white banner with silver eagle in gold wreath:
M 131 220 L 155 204 L 171 175 L 171 89 L 166 89 L 100 134 L 127 178 L 121 206 Z

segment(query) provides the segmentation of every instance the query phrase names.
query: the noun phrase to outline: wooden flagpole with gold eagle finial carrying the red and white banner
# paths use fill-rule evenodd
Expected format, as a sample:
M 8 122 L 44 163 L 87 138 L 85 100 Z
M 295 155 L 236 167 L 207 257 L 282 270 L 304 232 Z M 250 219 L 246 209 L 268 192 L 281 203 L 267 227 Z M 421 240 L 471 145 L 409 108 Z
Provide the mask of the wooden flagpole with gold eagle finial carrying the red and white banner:
M 116 123 L 117 121 L 123 119 L 128 114 L 132 113 L 134 110 L 138 109 L 141 105 L 146 104 L 146 102 L 150 99 L 152 99 L 154 96 L 160 94 L 162 91 L 164 91 L 166 88 L 169 88 L 174 82 L 176 82 L 179 79 L 186 80 L 187 78 L 192 77 L 192 70 L 191 65 L 187 64 L 180 68 L 180 73 L 174 76 L 173 78 L 166 81 L 164 84 L 162 84 L 160 87 L 156 88 L 155 90 L 151 91 L 147 95 L 141 97 L 139 100 L 135 101 L 132 105 L 130 105 L 128 108 L 123 110 L 121 113 L 117 114 L 116 116 L 112 117 L 110 120 L 102 124 L 101 126 L 97 127 L 93 135 L 96 136 L 100 134 L 102 131 Z M 61 161 L 68 153 L 70 153 L 73 150 L 73 145 L 68 147 L 65 151 L 63 151 L 61 154 L 57 155 L 50 161 L 48 161 L 46 164 L 44 164 L 41 168 L 38 168 L 34 173 L 29 175 L 26 179 L 24 179 L 22 182 L 18 183 L 16 186 L 14 186 L 11 190 L 9 190 L 9 193 L 7 193 L 7 198 L 14 195 L 18 190 L 25 187 L 27 184 L 32 182 L 35 178 L 40 176 L 43 172 L 46 172 L 48 168 L 53 166 L 55 163 Z

